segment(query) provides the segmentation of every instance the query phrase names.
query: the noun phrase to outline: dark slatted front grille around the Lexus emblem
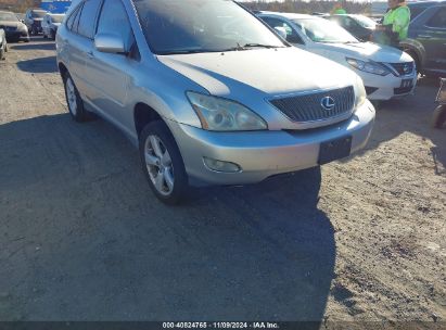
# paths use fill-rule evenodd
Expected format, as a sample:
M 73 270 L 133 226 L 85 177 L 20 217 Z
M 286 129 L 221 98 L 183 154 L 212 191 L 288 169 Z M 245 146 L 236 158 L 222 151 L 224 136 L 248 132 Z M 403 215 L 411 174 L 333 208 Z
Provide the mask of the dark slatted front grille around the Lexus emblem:
M 324 109 L 321 104 L 322 99 L 327 97 L 334 101 L 334 106 L 330 110 Z M 351 113 L 355 104 L 355 92 L 353 87 L 348 86 L 321 92 L 273 99 L 270 102 L 293 122 L 316 122 Z

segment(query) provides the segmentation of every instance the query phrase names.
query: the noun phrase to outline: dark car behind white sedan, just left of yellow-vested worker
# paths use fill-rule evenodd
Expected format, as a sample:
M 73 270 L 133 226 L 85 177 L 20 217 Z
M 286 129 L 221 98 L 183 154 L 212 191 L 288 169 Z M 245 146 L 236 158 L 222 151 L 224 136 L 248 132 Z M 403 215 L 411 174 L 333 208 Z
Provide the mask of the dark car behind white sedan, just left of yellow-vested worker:
M 364 15 L 343 14 L 323 17 L 337 23 L 361 41 L 369 41 L 377 26 L 377 22 Z

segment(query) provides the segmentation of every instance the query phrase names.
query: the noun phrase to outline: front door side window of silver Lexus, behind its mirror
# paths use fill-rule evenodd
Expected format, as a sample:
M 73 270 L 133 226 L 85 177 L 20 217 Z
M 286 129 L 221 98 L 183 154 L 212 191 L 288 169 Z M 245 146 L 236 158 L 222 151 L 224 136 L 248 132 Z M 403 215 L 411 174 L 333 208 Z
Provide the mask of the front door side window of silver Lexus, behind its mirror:
M 105 0 L 98 23 L 98 34 L 115 34 L 123 38 L 126 49 L 133 43 L 130 22 L 120 0 Z

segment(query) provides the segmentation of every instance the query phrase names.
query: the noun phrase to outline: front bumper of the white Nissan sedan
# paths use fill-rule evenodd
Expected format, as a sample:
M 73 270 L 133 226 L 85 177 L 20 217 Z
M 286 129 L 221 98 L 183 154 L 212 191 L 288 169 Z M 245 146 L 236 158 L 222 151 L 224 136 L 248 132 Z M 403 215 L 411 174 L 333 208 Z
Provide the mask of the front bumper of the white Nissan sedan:
M 379 76 L 368 74 L 360 71 L 355 71 L 364 81 L 366 86 L 367 98 L 377 101 L 386 101 L 393 98 L 404 97 L 415 91 L 417 86 L 417 72 L 413 72 L 407 76 L 396 77 L 393 74 L 386 76 Z M 411 87 L 403 86 L 403 81 L 411 80 Z

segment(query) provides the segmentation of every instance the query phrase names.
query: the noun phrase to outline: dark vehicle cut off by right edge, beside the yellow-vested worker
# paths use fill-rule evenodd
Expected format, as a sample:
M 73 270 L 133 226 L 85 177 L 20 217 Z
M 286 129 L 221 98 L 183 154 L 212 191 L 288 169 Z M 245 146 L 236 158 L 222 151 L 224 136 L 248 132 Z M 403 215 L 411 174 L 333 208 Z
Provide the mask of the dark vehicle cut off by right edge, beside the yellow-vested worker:
M 438 3 L 438 2 L 436 2 Z M 446 2 L 431 5 L 415 17 L 400 47 L 426 75 L 446 74 Z

